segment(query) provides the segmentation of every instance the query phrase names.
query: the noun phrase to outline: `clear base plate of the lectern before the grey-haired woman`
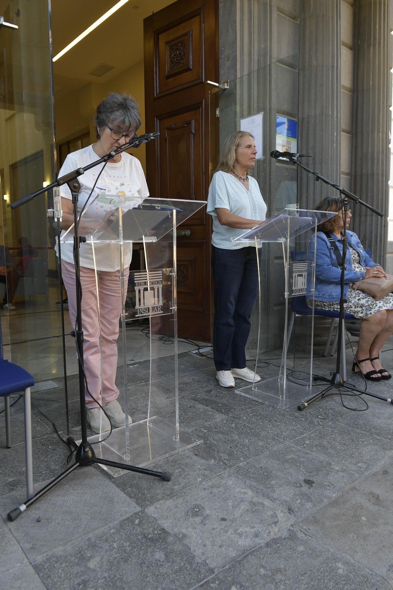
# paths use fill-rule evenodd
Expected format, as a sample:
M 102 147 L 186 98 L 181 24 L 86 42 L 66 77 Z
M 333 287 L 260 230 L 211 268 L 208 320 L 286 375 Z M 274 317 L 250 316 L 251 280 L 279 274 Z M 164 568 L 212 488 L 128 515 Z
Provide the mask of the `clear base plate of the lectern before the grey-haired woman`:
M 94 445 L 97 457 L 110 461 L 118 461 L 136 467 L 145 467 L 154 461 L 164 459 L 170 455 L 185 451 L 203 442 L 203 438 L 197 438 L 183 428 L 179 429 L 179 440 L 176 440 L 176 428 L 163 418 L 154 416 L 147 424 L 147 419 L 130 424 L 130 458 L 126 460 L 126 427 L 115 428 L 105 442 Z M 107 432 L 101 434 L 105 438 Z M 89 442 L 97 442 L 100 435 L 89 437 Z M 80 442 L 80 441 L 79 441 Z M 79 444 L 78 442 L 78 444 Z M 123 469 L 100 465 L 113 477 L 124 473 L 130 473 Z

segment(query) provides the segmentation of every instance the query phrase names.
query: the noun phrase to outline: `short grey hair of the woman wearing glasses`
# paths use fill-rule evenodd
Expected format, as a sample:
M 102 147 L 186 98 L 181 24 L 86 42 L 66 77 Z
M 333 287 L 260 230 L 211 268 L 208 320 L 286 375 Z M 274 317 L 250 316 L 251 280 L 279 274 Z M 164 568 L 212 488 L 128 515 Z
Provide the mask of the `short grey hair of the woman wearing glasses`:
M 97 139 L 100 139 L 98 130 L 103 129 L 105 125 L 116 127 L 123 132 L 132 129 L 136 133 L 142 124 L 138 101 L 128 92 L 109 93 L 106 99 L 98 104 L 93 118 Z

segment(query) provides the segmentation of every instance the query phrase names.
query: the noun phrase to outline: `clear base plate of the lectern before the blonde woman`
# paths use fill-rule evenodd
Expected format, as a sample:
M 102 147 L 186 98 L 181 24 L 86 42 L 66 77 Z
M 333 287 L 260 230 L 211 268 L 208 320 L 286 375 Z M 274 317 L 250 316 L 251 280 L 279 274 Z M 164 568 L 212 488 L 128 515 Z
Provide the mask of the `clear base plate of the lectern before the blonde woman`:
M 312 395 L 309 386 L 296 385 L 287 380 L 284 387 L 283 379 L 278 377 L 259 381 L 235 391 L 237 394 L 280 409 L 301 404 Z

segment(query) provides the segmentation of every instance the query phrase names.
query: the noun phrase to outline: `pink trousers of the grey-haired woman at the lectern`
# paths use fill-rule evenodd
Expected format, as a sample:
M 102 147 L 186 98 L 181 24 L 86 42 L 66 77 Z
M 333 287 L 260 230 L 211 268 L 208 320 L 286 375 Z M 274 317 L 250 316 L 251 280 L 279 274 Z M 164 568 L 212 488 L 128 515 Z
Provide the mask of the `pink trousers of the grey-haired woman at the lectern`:
M 77 297 L 75 293 L 75 266 L 62 261 L 62 278 L 68 297 L 68 310 L 72 328 L 77 317 Z M 124 270 L 126 285 L 129 270 Z M 83 359 L 88 388 L 102 405 L 117 399 L 119 391 L 115 385 L 117 369 L 117 337 L 121 315 L 120 270 L 97 271 L 97 285 L 94 268 L 81 267 L 82 284 L 82 330 Z M 98 323 L 98 300 L 100 301 L 100 325 Z M 102 378 L 101 378 L 102 375 Z M 102 379 L 102 381 L 101 381 Z M 101 401 L 102 387 L 102 401 Z M 97 408 L 86 391 L 87 408 Z

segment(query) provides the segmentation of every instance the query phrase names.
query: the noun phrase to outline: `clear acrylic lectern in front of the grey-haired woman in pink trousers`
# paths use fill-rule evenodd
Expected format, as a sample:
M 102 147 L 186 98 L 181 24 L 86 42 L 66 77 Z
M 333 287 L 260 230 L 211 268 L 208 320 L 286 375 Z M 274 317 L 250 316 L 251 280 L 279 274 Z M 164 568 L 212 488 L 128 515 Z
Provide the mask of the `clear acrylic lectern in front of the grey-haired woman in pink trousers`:
M 203 442 L 179 424 L 176 228 L 205 204 L 99 193 L 82 213 L 79 233 L 90 243 L 94 261 L 104 248 L 117 257 L 120 268 L 123 307 L 113 370 L 118 401 L 133 419 L 130 425 L 126 419 L 105 441 L 108 432 L 88 438 L 98 442 L 98 457 L 143 467 Z M 71 227 L 61 241 L 72 241 L 72 232 Z M 139 260 L 131 268 L 138 270 L 128 274 L 124 261 L 130 259 L 133 244 L 138 244 L 133 255 Z M 95 276 L 98 285 L 97 268 Z M 99 299 L 98 317 L 101 330 Z M 127 473 L 102 467 L 115 477 Z

